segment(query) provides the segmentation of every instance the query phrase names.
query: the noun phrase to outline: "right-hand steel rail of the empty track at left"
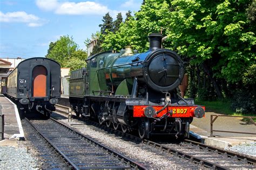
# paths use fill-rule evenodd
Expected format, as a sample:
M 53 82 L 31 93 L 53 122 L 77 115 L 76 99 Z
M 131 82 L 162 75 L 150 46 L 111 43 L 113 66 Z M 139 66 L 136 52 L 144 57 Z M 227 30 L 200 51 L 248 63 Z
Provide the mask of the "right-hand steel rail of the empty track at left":
M 87 140 L 90 140 L 93 144 L 95 144 L 95 146 L 99 146 L 99 147 L 103 148 L 105 151 L 107 151 L 107 153 L 110 153 L 110 154 L 114 155 L 114 157 L 118 158 L 120 161 L 125 162 L 127 165 L 130 165 L 132 168 L 134 168 L 134 169 L 148 169 L 144 165 L 139 164 L 138 162 L 136 162 L 136 161 L 126 157 L 125 155 L 120 154 L 120 153 L 112 150 L 112 148 L 110 148 L 110 147 L 107 147 L 107 146 L 105 146 L 103 144 L 98 143 L 98 141 L 96 141 L 96 140 L 94 140 L 94 139 L 92 139 L 92 138 L 90 138 L 88 136 L 85 136 L 84 134 L 78 132 L 75 129 L 70 128 L 69 126 L 66 126 L 65 124 L 57 121 L 56 119 L 54 119 L 54 118 L 50 118 L 50 119 L 55 121 L 56 123 L 64 126 L 65 128 L 67 128 L 67 129 L 77 133 L 79 136 L 82 136 L 82 137 L 86 138 Z

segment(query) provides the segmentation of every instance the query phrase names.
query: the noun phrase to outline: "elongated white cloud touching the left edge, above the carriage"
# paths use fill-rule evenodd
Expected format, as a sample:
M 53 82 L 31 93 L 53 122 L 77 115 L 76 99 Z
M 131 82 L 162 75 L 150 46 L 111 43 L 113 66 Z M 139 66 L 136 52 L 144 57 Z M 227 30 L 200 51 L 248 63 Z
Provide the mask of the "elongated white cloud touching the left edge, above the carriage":
M 24 11 L 7 12 L 7 13 L 3 13 L 0 11 L 0 22 L 26 23 L 28 26 L 31 26 L 31 27 L 42 26 L 43 24 L 45 24 L 45 20 L 35 15 L 28 14 Z

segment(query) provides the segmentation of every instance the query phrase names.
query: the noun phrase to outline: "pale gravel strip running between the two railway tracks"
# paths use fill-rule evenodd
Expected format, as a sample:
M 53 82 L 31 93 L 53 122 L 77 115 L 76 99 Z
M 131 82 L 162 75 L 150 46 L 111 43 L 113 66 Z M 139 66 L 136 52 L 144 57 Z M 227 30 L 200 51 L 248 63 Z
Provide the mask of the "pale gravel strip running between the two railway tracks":
M 52 117 L 55 117 L 52 115 Z M 59 117 L 59 116 L 57 116 Z M 56 118 L 57 118 L 56 117 Z M 68 119 L 60 118 L 59 121 L 64 124 L 71 126 L 73 129 L 96 139 L 100 143 L 106 146 L 114 148 L 114 150 L 125 154 L 131 159 L 142 162 L 142 164 L 149 168 L 158 169 L 198 169 L 198 166 L 179 157 L 171 154 L 160 152 L 157 148 L 154 149 L 144 144 L 133 143 L 132 141 L 125 140 L 125 138 L 115 136 L 115 134 L 107 133 L 106 131 L 99 130 L 95 126 L 84 124 L 82 121 L 72 119 L 72 122 L 68 122 Z M 73 125 L 72 124 L 84 124 L 84 125 Z

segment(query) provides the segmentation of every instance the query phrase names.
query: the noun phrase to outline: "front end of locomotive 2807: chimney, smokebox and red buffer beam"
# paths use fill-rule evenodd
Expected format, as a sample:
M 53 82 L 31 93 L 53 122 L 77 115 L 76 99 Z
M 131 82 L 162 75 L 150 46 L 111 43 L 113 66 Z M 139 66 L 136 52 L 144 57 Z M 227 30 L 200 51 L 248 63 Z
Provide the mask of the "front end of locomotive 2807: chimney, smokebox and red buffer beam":
M 139 135 L 142 138 L 158 133 L 189 136 L 193 117 L 202 118 L 205 108 L 179 95 L 178 86 L 184 77 L 184 62 L 180 56 L 161 48 L 161 34 L 153 33 L 149 38 L 150 49 L 144 54 L 143 78 L 140 79 L 146 84 L 146 103 L 133 105 L 133 118 L 139 118 L 140 122 Z

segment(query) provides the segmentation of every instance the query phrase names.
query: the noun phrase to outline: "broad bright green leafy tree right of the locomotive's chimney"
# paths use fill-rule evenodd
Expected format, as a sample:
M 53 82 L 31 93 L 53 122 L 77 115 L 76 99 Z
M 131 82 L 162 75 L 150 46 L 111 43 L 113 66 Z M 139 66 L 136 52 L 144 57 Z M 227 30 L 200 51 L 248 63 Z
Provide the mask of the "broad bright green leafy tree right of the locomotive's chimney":
M 255 34 L 246 17 L 250 1 L 172 1 L 170 46 L 209 75 L 219 97 L 217 79 L 241 81 L 255 62 Z

